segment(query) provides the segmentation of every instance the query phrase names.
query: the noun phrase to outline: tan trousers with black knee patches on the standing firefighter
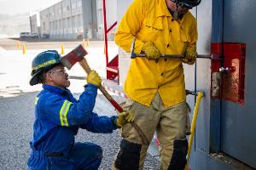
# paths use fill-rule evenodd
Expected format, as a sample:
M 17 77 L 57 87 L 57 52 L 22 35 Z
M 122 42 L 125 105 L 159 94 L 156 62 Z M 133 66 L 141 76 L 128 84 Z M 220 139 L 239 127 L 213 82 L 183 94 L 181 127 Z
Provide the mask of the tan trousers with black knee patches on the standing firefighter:
M 160 141 L 160 170 L 167 170 L 168 168 L 172 170 L 169 165 L 172 160 L 174 141 L 186 141 L 186 133 L 189 131 L 189 109 L 186 102 L 165 108 L 160 95 L 157 93 L 149 107 L 131 99 L 127 99 L 122 107 L 135 114 L 135 122 L 143 130 L 149 141 L 153 139 L 154 132 L 157 133 L 157 138 Z M 142 144 L 141 138 L 137 131 L 131 127 L 131 124 L 127 124 L 121 129 L 121 135 L 129 142 Z M 147 150 L 148 145 L 143 145 L 140 150 L 140 170 L 143 169 Z M 115 167 L 115 162 L 113 163 L 114 169 L 119 169 Z

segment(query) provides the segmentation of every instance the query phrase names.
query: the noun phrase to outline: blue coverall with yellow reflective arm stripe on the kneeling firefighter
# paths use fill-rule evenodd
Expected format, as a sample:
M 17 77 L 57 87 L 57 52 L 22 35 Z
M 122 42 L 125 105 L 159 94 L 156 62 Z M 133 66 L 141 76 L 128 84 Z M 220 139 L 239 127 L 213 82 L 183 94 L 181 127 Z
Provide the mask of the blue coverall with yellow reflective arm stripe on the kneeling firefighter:
M 98 169 L 102 148 L 92 143 L 75 143 L 79 127 L 93 133 L 112 133 L 117 116 L 92 112 L 97 88 L 87 84 L 79 100 L 68 89 L 43 85 L 35 101 L 32 152 L 28 169 Z

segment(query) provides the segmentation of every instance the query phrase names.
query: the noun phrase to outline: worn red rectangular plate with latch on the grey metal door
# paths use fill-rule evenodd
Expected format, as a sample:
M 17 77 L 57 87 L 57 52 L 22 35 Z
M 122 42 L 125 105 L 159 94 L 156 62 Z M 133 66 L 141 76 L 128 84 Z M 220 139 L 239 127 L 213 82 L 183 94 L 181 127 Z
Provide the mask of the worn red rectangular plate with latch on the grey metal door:
M 244 105 L 246 44 L 212 43 L 212 54 L 223 55 L 222 60 L 212 60 L 212 99 Z

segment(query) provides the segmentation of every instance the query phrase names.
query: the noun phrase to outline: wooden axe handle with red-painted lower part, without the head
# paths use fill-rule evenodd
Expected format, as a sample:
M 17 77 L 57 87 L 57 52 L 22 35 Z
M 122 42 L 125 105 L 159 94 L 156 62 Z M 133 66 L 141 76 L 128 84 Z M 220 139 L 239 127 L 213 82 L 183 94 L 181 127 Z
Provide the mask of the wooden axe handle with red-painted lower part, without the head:
M 90 71 L 91 71 L 90 66 L 88 65 L 86 59 L 80 60 L 79 64 L 82 66 L 82 68 L 84 69 L 84 71 L 87 74 L 90 73 Z M 102 87 L 102 85 L 99 87 L 99 89 L 101 90 L 102 94 L 108 99 L 108 101 L 113 105 L 113 107 L 117 111 L 119 111 L 119 113 L 124 111 L 123 108 L 112 98 L 112 96 L 110 94 L 108 94 L 108 91 Z M 148 145 L 149 141 L 148 141 L 147 137 L 145 136 L 145 134 L 143 133 L 142 129 L 140 127 L 138 127 L 135 122 L 131 122 L 131 126 L 137 130 L 137 133 L 140 135 L 143 144 Z

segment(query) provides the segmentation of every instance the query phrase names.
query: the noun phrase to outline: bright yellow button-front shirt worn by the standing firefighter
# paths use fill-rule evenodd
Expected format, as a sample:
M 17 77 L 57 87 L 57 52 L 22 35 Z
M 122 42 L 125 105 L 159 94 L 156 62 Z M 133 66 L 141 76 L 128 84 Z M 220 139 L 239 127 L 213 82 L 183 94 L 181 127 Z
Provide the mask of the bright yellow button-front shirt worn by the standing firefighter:
M 161 54 L 184 54 L 185 48 L 195 46 L 197 27 L 190 13 L 174 20 L 166 0 L 135 0 L 126 11 L 115 35 L 115 42 L 130 52 L 136 37 L 135 53 L 140 54 L 143 43 L 154 42 Z M 131 99 L 149 106 L 158 91 L 166 107 L 185 100 L 185 85 L 181 59 L 131 59 L 125 93 Z

